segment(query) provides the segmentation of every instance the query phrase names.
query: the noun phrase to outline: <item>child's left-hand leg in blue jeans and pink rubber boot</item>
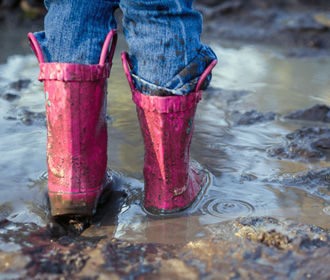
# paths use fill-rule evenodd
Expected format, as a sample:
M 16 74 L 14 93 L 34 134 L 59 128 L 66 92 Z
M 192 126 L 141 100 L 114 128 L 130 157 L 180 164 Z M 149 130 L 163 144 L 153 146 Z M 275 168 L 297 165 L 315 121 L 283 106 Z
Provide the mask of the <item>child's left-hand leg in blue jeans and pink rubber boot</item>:
M 116 2 L 54 0 L 46 6 L 45 31 L 29 39 L 45 89 L 51 211 L 91 216 L 108 183 L 106 79 Z

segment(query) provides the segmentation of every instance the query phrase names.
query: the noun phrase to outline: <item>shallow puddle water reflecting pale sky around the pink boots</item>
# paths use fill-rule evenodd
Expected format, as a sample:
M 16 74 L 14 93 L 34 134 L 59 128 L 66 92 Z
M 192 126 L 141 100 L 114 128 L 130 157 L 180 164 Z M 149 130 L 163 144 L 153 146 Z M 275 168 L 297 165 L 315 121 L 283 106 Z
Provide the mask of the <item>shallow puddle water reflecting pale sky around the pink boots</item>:
M 111 117 L 108 164 L 115 170 L 114 192 L 83 236 L 181 243 L 210 234 L 205 225 L 250 215 L 289 217 L 329 227 L 325 198 L 307 189 L 289 188 L 271 181 L 327 165 L 282 161 L 267 155 L 269 148 L 300 125 L 280 118 L 235 126 L 230 116 L 234 110 L 284 114 L 315 102 L 329 105 L 330 64 L 311 58 L 287 59 L 274 50 L 253 46 L 232 49 L 213 45 L 213 48 L 220 63 L 214 71 L 212 86 L 249 90 L 249 93 L 227 103 L 221 94 L 213 94 L 198 108 L 191 153 L 210 172 L 207 191 L 194 207 L 177 215 L 153 217 L 143 211 L 143 143 L 135 105 L 117 54 L 108 96 Z M 32 56 L 15 56 L 0 66 L 0 94 L 14 91 L 9 84 L 17 79 L 33 81 L 17 92 L 20 98 L 12 102 L 0 99 L 0 221 L 8 219 L 42 226 L 49 221 L 47 180 L 43 173 L 45 127 L 5 119 L 7 112 L 23 106 L 33 112 L 44 110 L 42 85 L 36 81 L 37 75 L 38 67 Z

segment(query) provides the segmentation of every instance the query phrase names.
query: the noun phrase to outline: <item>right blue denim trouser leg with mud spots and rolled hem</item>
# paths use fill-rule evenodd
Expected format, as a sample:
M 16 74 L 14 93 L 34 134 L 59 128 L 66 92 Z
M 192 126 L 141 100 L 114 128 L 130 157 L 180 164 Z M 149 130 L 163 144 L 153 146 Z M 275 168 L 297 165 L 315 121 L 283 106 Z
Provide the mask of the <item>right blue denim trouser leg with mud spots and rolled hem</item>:
M 168 94 L 164 88 L 173 94 L 188 94 L 215 59 L 212 50 L 200 42 L 202 17 L 192 2 L 120 1 L 135 85 L 145 94 Z

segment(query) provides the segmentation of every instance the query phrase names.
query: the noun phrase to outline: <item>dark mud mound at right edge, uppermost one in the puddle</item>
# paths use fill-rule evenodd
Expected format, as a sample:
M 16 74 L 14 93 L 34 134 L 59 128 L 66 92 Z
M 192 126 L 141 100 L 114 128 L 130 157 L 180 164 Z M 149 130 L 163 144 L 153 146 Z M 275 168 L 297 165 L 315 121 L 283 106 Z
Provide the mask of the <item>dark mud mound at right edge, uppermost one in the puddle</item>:
M 330 123 L 330 107 L 324 104 L 316 104 L 312 107 L 292 112 L 286 115 L 285 118 Z

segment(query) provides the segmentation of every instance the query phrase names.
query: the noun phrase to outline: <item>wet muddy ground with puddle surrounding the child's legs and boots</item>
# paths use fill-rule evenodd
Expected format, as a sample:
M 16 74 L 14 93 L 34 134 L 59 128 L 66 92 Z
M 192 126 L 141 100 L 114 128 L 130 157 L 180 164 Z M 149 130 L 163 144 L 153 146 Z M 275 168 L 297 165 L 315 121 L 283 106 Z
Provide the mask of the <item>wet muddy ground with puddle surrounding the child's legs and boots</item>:
M 0 1 L 0 62 L 30 52 L 25 34 L 42 28 L 45 11 L 39 2 Z M 248 55 L 253 55 L 255 61 L 262 52 L 259 47 L 256 54 L 246 50 L 246 44 L 283 49 L 281 55 L 264 56 L 280 56 L 270 65 L 279 69 L 271 73 L 281 78 L 282 91 L 287 88 L 284 101 L 266 92 L 260 97 L 249 83 L 227 89 L 221 82 L 228 85 L 230 77 L 215 71 L 215 83 L 204 93 L 197 117 L 203 124 L 195 132 L 197 148 L 192 149 L 214 181 L 191 212 L 149 217 L 140 205 L 143 150 L 135 147 L 142 143 L 134 138 L 135 109 L 126 105 L 129 97 L 122 97 L 122 91 L 129 96 L 123 81 L 109 102 L 116 108 L 121 104 L 121 111 L 108 108 L 111 167 L 116 170 L 114 186 L 120 187 L 104 197 L 92 220 L 54 220 L 46 197 L 45 143 L 36 142 L 45 138 L 43 101 L 36 97 L 42 96 L 42 88 L 33 80 L 37 67 L 32 58 L 11 57 L 5 70 L 0 69 L 1 177 L 13 172 L 9 183 L 0 181 L 0 279 L 329 279 L 329 75 L 324 71 L 314 78 L 322 87 L 319 93 L 299 95 L 312 82 L 299 81 L 305 84 L 296 98 L 298 82 L 290 86 L 286 79 L 291 64 L 296 63 L 292 69 L 297 71 L 314 63 L 311 73 L 329 64 L 329 2 L 201 0 L 196 7 L 204 14 L 209 42 L 218 44 L 220 37 L 229 40 L 225 45 L 239 42 L 225 52 L 233 61 L 240 55 L 238 66 L 219 66 L 233 68 L 235 77 L 244 64 L 241 59 L 251 61 Z M 281 68 L 284 60 L 289 64 Z M 27 74 L 7 78 L 7 72 L 22 70 L 20 65 Z M 117 80 L 122 79 L 119 72 L 118 59 L 112 73 Z M 277 86 L 277 80 L 268 81 L 265 91 L 281 95 Z M 253 100 L 262 105 L 254 106 Z M 27 148 L 17 145 L 8 155 L 21 140 L 5 136 L 30 139 L 29 131 L 37 136 L 23 142 Z M 128 152 L 120 154 L 124 150 Z M 15 168 L 23 175 L 16 175 Z M 7 192 L 9 187 L 13 191 Z

